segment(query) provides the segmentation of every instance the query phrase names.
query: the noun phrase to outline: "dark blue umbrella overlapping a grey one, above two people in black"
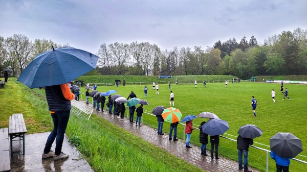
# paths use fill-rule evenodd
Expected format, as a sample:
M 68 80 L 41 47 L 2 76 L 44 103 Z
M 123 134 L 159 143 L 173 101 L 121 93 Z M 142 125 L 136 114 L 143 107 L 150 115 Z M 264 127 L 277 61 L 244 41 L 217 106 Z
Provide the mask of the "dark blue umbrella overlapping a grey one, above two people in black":
M 203 125 L 203 132 L 210 136 L 224 134 L 227 130 L 229 130 L 228 122 L 222 119 L 210 119 Z

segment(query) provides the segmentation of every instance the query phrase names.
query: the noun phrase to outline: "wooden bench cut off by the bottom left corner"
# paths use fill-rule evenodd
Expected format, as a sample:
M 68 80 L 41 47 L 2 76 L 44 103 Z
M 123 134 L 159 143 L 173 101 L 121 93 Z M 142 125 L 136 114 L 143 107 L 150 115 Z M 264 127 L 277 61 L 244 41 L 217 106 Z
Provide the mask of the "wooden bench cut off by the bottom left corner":
M 0 129 L 0 171 L 10 171 L 9 129 Z

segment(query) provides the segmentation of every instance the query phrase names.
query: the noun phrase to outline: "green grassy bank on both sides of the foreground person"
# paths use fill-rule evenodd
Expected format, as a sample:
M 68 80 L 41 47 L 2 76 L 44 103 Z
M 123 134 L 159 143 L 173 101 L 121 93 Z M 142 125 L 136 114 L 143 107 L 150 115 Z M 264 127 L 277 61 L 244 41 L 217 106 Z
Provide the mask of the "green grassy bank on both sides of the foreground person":
M 11 114 L 23 113 L 28 133 L 51 131 L 44 91 L 12 80 L 0 89 L 0 128 Z M 90 121 L 72 116 L 67 134 L 96 171 L 202 171 L 95 115 Z

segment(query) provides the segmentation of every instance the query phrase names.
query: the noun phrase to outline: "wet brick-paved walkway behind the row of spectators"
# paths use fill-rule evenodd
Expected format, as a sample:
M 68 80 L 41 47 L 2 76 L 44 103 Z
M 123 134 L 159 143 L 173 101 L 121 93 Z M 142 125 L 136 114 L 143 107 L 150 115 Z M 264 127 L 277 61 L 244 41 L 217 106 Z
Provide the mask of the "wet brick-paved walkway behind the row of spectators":
M 80 101 L 83 102 L 83 101 Z M 85 104 L 85 102 L 84 102 Z M 93 105 L 88 105 L 92 107 Z M 143 125 L 142 127 L 136 127 L 135 123 L 130 123 L 129 119 L 125 118 L 124 121 L 121 121 L 117 116 L 109 114 L 104 111 L 96 111 L 94 109 L 94 114 L 112 122 L 113 124 L 143 138 L 144 140 L 158 146 L 159 148 L 187 161 L 190 164 L 198 166 L 204 171 L 244 171 L 243 169 L 238 169 L 238 162 L 229 160 L 223 156 L 220 156 L 220 159 L 215 160 L 211 159 L 211 156 L 201 156 L 201 149 L 199 146 L 192 146 L 192 148 L 187 149 L 185 147 L 185 141 L 178 140 L 172 141 L 168 140 L 168 134 L 162 136 L 157 134 L 157 131 L 151 127 Z M 207 150 L 207 154 L 208 154 Z M 210 154 L 210 153 L 209 153 Z M 253 168 L 249 168 L 252 171 L 258 171 Z

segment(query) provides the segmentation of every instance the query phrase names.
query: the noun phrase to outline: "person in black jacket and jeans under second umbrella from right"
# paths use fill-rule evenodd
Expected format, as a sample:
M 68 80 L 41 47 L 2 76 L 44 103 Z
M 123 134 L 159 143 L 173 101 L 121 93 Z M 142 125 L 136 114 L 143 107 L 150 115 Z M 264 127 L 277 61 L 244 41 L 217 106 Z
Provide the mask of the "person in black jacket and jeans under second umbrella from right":
M 242 136 L 238 135 L 237 138 L 237 149 L 238 149 L 238 160 L 239 160 L 239 169 L 244 168 L 244 171 L 251 172 L 248 169 L 248 148 L 249 145 L 254 143 L 253 139 L 251 138 L 243 138 Z M 242 166 L 242 154 L 244 155 L 244 167 Z

